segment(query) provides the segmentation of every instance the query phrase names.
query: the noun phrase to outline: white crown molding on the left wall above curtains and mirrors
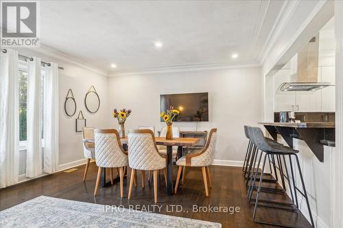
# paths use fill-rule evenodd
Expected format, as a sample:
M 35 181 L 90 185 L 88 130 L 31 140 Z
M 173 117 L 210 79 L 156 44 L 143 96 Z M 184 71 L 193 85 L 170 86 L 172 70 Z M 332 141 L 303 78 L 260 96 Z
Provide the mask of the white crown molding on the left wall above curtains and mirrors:
M 82 60 L 78 60 L 77 58 L 67 55 L 66 53 L 62 53 L 60 51 L 57 51 L 56 49 L 52 49 L 51 47 L 47 47 L 45 45 L 40 45 L 40 48 L 32 49 L 32 51 L 36 51 L 38 53 L 41 53 L 43 55 L 48 55 L 51 58 L 56 58 L 57 60 L 61 60 L 62 62 L 67 62 L 69 64 L 74 64 L 76 66 L 80 66 L 82 68 L 85 68 L 89 71 L 93 71 L 95 73 L 98 73 L 99 75 L 107 76 L 107 72 L 104 71 L 102 68 L 98 68 L 97 66 L 93 66 L 91 64 L 88 64 L 87 62 L 84 62 Z

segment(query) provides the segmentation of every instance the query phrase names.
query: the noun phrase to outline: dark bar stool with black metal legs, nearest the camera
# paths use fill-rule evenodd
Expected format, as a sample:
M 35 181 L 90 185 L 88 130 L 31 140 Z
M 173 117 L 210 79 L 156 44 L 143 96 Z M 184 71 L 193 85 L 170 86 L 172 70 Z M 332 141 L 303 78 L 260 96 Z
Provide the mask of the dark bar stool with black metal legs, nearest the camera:
M 305 197 L 306 204 L 307 204 L 307 210 L 309 211 L 309 216 L 310 216 L 310 220 L 311 220 L 311 225 L 312 225 L 312 227 L 314 227 L 314 219 L 312 217 L 311 208 L 309 206 L 309 199 L 307 197 L 307 192 L 306 192 L 305 183 L 304 183 L 304 179 L 303 179 L 303 173 L 301 172 L 300 164 L 299 164 L 299 160 L 298 160 L 298 156 L 297 156 L 297 153 L 299 151 L 296 151 L 290 147 L 285 147 L 281 144 L 270 144 L 268 142 L 268 140 L 265 139 L 265 136 L 263 135 L 263 132 L 261 131 L 261 129 L 259 129 L 259 127 L 251 127 L 251 128 L 249 128 L 249 131 L 250 131 L 249 135 L 250 135 L 250 139 L 251 139 L 252 143 L 255 144 L 255 146 L 257 147 L 257 150 L 261 151 L 261 153 L 259 155 L 259 161 L 257 162 L 257 167 L 260 166 L 261 158 L 262 158 L 262 155 L 264 154 L 261 176 L 259 178 L 259 186 L 257 188 L 257 196 L 255 199 L 255 208 L 254 208 L 254 212 L 252 215 L 252 218 L 255 221 L 255 223 L 261 223 L 261 224 L 266 224 L 266 225 L 276 225 L 276 226 L 283 226 L 283 227 L 295 227 L 292 225 L 285 225 L 285 224 L 279 224 L 279 223 L 268 223 L 268 222 L 264 222 L 263 220 L 257 220 L 256 214 L 257 214 L 257 208 L 259 206 L 274 207 L 276 209 L 281 209 L 281 210 L 292 210 L 294 212 L 298 211 L 298 209 L 299 209 L 298 208 L 298 197 L 296 194 L 296 192 L 298 191 L 300 194 L 303 195 L 303 197 Z M 261 189 L 262 189 L 262 179 L 263 179 L 263 175 L 264 175 L 265 163 L 266 163 L 266 159 L 268 156 L 273 156 L 273 157 L 275 156 L 276 157 L 276 160 L 279 164 L 279 171 L 281 173 L 281 176 L 287 177 L 287 180 L 289 182 L 289 191 L 290 191 L 291 197 L 292 197 L 292 203 L 277 203 L 275 201 L 269 201 L 270 204 L 266 203 L 268 201 L 263 201 L 265 203 L 259 203 L 259 201 L 262 202 L 262 200 L 259 199 L 259 197 L 260 197 Z M 297 164 L 297 168 L 298 168 L 298 173 L 300 175 L 300 180 L 301 180 L 303 192 L 300 191 L 296 187 L 296 184 L 294 181 L 294 168 L 295 167 L 293 167 L 293 164 L 292 164 L 292 156 L 294 156 L 296 159 L 296 164 Z M 292 183 L 289 180 L 287 163 L 286 163 L 285 157 L 289 158 L 290 173 L 292 174 Z M 283 160 L 281 160 L 281 158 L 283 158 Z M 287 176 L 283 174 L 282 161 L 284 163 L 283 165 L 285 166 L 285 171 L 287 173 Z M 252 190 L 255 188 L 256 181 L 257 181 L 257 172 L 255 172 L 255 177 L 253 178 L 252 183 L 251 183 L 251 188 L 250 188 L 251 192 L 249 192 L 249 197 L 250 197 L 249 200 L 251 200 Z M 284 182 L 284 179 L 282 179 L 282 181 Z M 293 197 L 293 191 L 294 191 L 294 197 Z M 295 198 L 295 201 L 294 201 L 294 198 Z

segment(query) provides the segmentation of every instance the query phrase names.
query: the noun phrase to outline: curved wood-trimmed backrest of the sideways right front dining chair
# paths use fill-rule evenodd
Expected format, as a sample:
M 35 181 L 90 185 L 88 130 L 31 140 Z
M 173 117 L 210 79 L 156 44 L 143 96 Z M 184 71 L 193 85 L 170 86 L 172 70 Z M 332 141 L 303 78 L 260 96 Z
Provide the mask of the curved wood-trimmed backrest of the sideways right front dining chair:
M 202 152 L 186 156 L 186 164 L 190 166 L 209 166 L 213 163 L 215 153 L 215 141 L 217 140 L 217 129 L 210 131 L 209 139 L 206 142 Z

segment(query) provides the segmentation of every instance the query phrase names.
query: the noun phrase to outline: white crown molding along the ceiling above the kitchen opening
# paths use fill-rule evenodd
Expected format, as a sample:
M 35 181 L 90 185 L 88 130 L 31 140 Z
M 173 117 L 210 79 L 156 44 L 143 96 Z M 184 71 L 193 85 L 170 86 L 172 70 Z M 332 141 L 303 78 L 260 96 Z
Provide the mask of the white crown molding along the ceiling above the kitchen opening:
M 263 45 L 262 51 L 257 58 L 260 64 L 265 62 L 265 59 L 268 57 L 270 51 L 276 44 L 276 41 L 279 40 L 281 34 L 283 33 L 289 19 L 292 18 L 296 8 L 298 7 L 300 1 L 284 1 L 283 6 L 279 12 L 279 15 L 276 17 L 275 23 L 270 30 L 268 38 L 265 40 L 265 45 Z

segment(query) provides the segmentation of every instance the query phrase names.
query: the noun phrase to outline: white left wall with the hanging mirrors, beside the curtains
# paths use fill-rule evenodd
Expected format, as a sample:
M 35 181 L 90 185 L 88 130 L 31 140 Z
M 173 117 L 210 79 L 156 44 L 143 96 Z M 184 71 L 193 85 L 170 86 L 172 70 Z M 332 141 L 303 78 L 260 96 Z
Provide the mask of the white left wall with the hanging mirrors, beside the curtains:
M 85 68 L 81 65 L 74 64 L 68 59 L 60 60 L 38 51 L 29 49 L 19 49 L 20 54 L 27 56 L 40 57 L 45 62 L 57 62 L 59 66 L 63 66 L 64 70 L 59 70 L 59 127 L 60 127 L 60 153 L 59 164 L 60 169 L 69 168 L 84 162 L 82 151 L 82 132 L 75 132 L 75 118 L 78 112 L 82 110 L 86 118 L 87 126 L 106 127 L 107 119 L 104 118 L 108 113 L 107 108 L 107 77 L 102 73 L 93 71 L 91 68 Z M 99 111 L 95 114 L 87 112 L 84 106 L 84 96 L 91 86 L 95 86 L 101 105 Z M 64 112 L 64 101 L 67 92 L 71 88 L 76 101 L 77 111 L 74 116 L 69 117 Z M 25 152 L 25 151 L 24 151 Z M 25 166 L 25 160 L 21 156 L 21 166 Z M 24 156 L 25 158 L 25 156 Z M 23 169 L 25 170 L 25 169 Z

